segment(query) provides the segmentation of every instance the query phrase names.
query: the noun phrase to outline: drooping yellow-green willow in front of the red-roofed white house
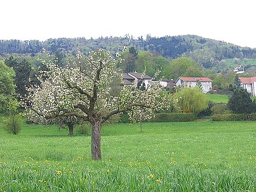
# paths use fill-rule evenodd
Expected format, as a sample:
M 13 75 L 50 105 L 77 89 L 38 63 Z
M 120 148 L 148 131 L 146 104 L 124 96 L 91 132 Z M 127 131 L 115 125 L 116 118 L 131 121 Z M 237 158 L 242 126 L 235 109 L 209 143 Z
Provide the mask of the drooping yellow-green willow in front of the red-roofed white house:
M 175 95 L 175 101 L 183 112 L 197 113 L 207 108 L 208 99 L 201 89 L 195 87 L 183 87 Z

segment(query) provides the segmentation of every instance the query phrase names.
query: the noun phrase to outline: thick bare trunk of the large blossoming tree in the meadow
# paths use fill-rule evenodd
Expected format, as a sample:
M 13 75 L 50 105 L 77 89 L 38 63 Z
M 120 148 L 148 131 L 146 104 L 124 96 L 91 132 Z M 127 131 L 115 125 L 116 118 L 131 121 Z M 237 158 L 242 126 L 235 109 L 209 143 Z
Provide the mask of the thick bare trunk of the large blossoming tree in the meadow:
M 101 159 L 101 122 L 95 119 L 91 121 L 91 158 Z

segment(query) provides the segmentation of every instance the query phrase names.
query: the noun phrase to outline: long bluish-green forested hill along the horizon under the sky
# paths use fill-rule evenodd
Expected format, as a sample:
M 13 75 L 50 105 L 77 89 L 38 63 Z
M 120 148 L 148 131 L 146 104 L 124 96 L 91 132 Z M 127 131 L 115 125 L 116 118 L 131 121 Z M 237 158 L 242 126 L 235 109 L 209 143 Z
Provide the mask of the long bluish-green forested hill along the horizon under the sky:
M 76 54 L 79 47 L 84 54 L 98 48 L 104 48 L 111 52 L 120 51 L 124 45 L 135 47 L 137 51 L 150 51 L 175 59 L 179 56 L 190 56 L 206 68 L 213 67 L 216 62 L 228 58 L 252 58 L 256 55 L 256 49 L 239 47 L 223 41 L 211 40 L 197 35 L 179 35 L 166 37 L 142 37 L 134 39 L 129 35 L 125 37 L 101 37 L 97 39 L 86 38 L 58 38 L 46 41 L 29 40 L 1 40 L 0 54 L 6 57 L 9 54 L 29 54 L 33 56 L 41 52 L 42 48 L 53 54 Z

